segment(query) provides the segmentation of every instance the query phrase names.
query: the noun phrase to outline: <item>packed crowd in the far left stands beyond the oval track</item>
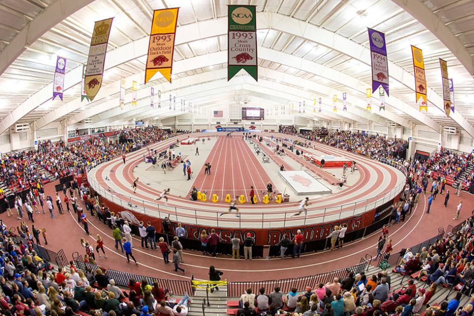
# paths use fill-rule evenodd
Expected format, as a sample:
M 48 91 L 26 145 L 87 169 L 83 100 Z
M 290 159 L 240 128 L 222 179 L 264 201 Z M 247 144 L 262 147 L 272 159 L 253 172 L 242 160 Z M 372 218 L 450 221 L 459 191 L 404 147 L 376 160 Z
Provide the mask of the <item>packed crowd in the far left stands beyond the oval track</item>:
M 97 136 L 74 143 L 64 143 L 62 140 L 54 143 L 50 140 L 43 141 L 39 143 L 37 150 L 2 155 L 0 179 L 8 187 L 18 185 L 21 191 L 47 180 L 47 173 L 56 178 L 80 174 L 84 172 L 84 166 L 100 157 L 112 157 L 169 136 L 166 130 L 145 127 L 122 131 L 119 138 L 126 141 L 120 143 L 106 143 L 106 139 Z M 46 172 L 42 172 L 38 166 Z

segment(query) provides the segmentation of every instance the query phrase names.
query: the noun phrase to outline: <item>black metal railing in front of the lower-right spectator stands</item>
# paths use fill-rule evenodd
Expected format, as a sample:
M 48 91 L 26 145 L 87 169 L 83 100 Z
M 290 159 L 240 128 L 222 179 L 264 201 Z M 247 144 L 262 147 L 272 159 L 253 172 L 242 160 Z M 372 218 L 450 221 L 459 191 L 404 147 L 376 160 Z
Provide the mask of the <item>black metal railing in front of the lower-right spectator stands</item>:
M 367 268 L 367 261 L 356 264 L 349 268 L 339 269 L 331 272 L 320 273 L 316 275 L 302 276 L 298 278 L 287 278 L 280 280 L 265 280 L 265 281 L 244 281 L 244 282 L 228 282 L 227 296 L 240 296 L 247 288 L 252 288 L 253 292 L 257 292 L 259 288 L 265 288 L 265 292 L 270 293 L 275 286 L 280 288 L 280 291 L 287 293 L 292 287 L 296 287 L 297 291 L 304 290 L 306 286 L 316 287 L 319 283 L 332 282 L 334 278 L 343 279 L 349 275 L 349 272 L 359 273 Z

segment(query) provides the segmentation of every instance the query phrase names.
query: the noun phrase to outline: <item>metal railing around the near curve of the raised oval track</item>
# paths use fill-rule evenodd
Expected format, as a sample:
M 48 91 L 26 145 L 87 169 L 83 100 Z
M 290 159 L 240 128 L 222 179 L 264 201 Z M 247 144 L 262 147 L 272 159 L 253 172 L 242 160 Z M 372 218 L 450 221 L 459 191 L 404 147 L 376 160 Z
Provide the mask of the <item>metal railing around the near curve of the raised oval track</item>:
M 188 134 L 192 135 L 192 134 Z M 176 136 L 174 136 L 176 137 Z M 174 137 L 170 137 L 167 140 L 170 140 Z M 304 139 L 304 138 L 302 138 Z M 178 222 L 187 223 L 187 224 L 198 224 L 198 213 L 200 219 L 203 217 L 208 217 L 208 219 L 219 221 L 220 211 L 212 211 L 205 209 L 192 209 L 186 207 L 171 207 L 160 205 L 158 203 L 153 203 L 152 201 L 145 201 L 138 199 L 132 196 L 124 195 L 113 191 L 110 188 L 105 188 L 100 185 L 93 177 L 89 177 L 89 172 L 104 162 L 110 161 L 110 159 L 105 159 L 104 157 L 93 161 L 86 166 L 87 179 L 89 186 L 98 192 L 103 198 L 119 204 L 125 209 L 133 210 L 135 212 L 154 215 L 159 218 L 162 217 L 162 213 L 166 214 L 172 220 Z M 399 162 L 394 160 L 386 159 L 385 157 L 377 157 L 376 161 L 391 166 L 400 172 L 406 177 L 407 170 Z M 341 220 L 343 218 L 352 217 L 358 214 L 363 214 L 367 210 L 377 208 L 396 197 L 405 187 L 405 182 L 400 182 L 395 188 L 392 188 L 386 192 L 380 193 L 375 197 L 371 197 L 365 200 L 354 201 L 351 203 L 343 204 L 341 206 L 327 207 L 327 208 L 317 208 L 317 209 L 308 209 L 308 212 L 305 215 L 305 223 L 322 223 L 325 222 L 328 218 L 330 220 Z M 186 211 L 188 214 L 178 213 L 178 210 Z M 339 211 L 339 212 L 338 212 Z M 291 226 L 300 226 L 301 219 L 289 219 L 288 215 L 291 215 L 293 211 L 269 211 L 269 212 L 245 212 L 241 210 L 241 217 L 238 219 L 225 219 L 227 227 L 242 227 L 242 222 L 244 222 L 245 227 L 249 227 L 249 221 L 242 220 L 242 215 L 250 215 L 251 217 L 258 218 L 258 222 L 255 224 L 260 225 L 261 228 L 272 228 L 272 227 L 291 227 Z M 204 215 L 203 215 L 204 214 Z M 284 217 L 284 218 L 283 218 Z M 266 224 L 266 225 L 265 225 Z M 260 227 L 259 227 L 260 228 Z

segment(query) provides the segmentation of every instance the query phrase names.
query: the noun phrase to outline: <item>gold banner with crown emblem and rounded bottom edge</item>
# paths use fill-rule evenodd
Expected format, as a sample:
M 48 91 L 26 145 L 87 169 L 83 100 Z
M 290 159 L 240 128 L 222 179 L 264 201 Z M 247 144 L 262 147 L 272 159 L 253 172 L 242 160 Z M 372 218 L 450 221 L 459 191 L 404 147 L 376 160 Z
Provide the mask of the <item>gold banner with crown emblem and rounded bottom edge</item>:
M 89 100 L 94 100 L 102 85 L 104 74 L 105 53 L 109 41 L 113 18 L 97 21 L 90 41 L 89 57 L 85 76 L 85 91 Z

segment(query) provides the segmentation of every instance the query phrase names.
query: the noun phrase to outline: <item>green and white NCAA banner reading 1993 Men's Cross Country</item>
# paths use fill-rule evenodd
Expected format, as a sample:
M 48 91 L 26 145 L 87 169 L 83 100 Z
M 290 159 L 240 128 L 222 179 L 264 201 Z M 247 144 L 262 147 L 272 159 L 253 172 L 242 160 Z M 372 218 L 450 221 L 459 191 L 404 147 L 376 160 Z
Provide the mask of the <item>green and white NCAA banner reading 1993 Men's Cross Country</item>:
M 227 81 L 245 70 L 258 81 L 255 6 L 227 6 Z

